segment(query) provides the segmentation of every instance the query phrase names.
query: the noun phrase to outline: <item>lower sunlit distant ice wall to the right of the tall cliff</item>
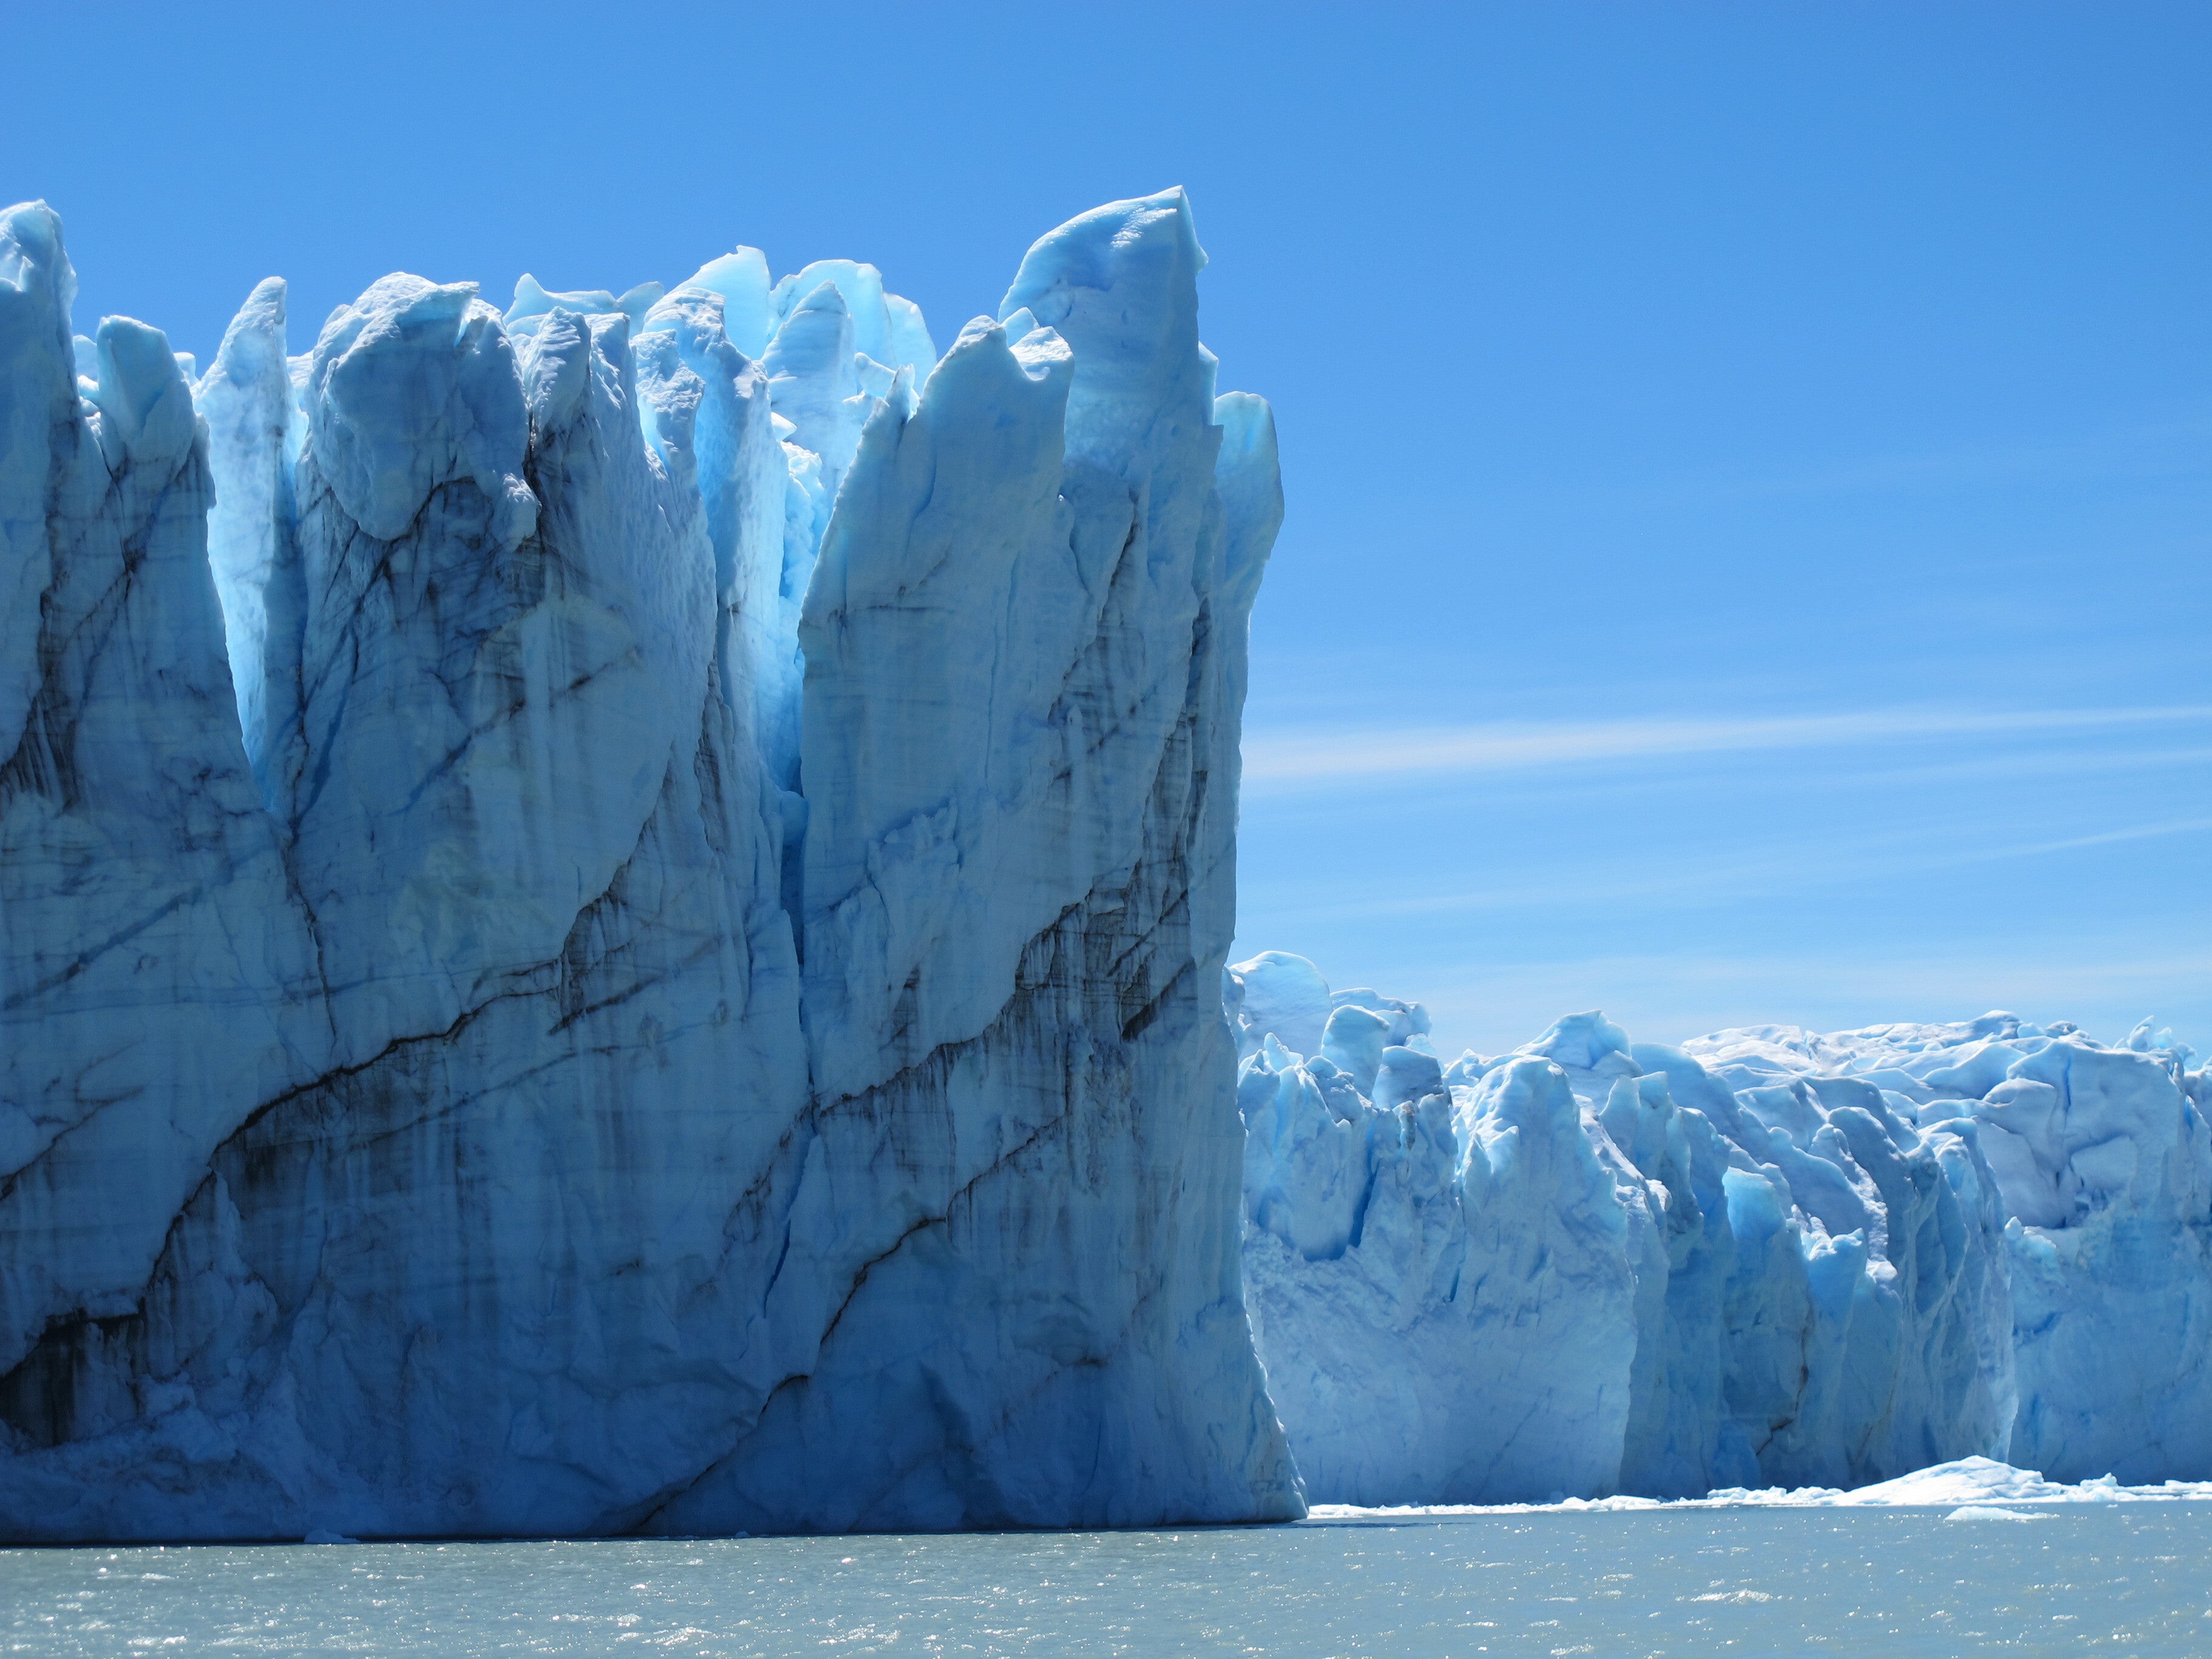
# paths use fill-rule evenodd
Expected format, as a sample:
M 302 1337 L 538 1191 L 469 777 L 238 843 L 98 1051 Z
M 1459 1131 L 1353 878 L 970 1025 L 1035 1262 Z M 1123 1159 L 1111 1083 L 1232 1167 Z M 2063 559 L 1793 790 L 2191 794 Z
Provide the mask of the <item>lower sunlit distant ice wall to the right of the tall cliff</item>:
M 1245 1301 L 1307 1498 L 1688 1498 L 1958 1458 L 2212 1478 L 2212 1104 L 2006 1013 L 1429 1044 L 1230 969 Z

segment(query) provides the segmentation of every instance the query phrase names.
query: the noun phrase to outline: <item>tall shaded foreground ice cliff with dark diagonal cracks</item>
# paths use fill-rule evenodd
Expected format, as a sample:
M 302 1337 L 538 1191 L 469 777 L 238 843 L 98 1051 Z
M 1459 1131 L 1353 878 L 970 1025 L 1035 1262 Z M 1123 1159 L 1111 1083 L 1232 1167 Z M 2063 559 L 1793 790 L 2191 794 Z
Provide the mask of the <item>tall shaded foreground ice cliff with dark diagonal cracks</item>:
M 1265 403 L 1170 190 L 204 378 L 0 217 L 0 1535 L 1301 1511 L 1239 1298 Z

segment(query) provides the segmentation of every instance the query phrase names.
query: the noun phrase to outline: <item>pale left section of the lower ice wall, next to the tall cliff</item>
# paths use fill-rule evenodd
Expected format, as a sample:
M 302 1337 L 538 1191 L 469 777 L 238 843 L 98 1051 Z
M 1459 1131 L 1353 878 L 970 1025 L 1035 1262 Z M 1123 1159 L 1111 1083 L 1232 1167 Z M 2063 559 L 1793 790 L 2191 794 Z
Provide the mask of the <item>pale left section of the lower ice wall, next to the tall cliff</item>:
M 1329 1031 L 1349 1035 L 1363 1013 L 1340 1006 Z M 1559 1066 L 1517 1057 L 1447 1086 L 1418 1051 L 1383 1055 L 1391 1093 L 1422 1073 L 1391 1106 L 1327 1053 L 1301 1060 L 1272 1035 L 1239 1091 L 1245 1294 L 1307 1495 L 1613 1491 L 1641 1212 Z

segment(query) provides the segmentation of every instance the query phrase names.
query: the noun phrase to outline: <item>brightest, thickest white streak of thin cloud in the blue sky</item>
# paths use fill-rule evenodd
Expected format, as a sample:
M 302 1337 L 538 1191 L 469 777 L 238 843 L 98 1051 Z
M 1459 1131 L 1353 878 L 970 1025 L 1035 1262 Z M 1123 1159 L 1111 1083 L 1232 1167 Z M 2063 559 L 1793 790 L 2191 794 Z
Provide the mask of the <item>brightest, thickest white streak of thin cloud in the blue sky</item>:
M 1327 785 L 1356 779 L 1513 772 L 1668 754 L 1816 750 L 1958 737 L 2055 737 L 2205 721 L 2212 721 L 2212 703 L 1984 712 L 1876 708 L 1765 719 L 1480 721 L 1369 730 L 1261 730 L 1245 734 L 1243 783 L 1248 787 Z

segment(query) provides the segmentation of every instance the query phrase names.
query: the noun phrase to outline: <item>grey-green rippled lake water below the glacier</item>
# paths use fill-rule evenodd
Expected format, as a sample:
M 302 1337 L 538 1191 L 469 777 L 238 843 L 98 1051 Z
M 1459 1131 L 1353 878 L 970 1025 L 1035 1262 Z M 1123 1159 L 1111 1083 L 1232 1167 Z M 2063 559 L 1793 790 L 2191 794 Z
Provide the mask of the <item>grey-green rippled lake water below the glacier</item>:
M 0 1652 L 2208 1655 L 2212 1504 L 0 1551 Z

